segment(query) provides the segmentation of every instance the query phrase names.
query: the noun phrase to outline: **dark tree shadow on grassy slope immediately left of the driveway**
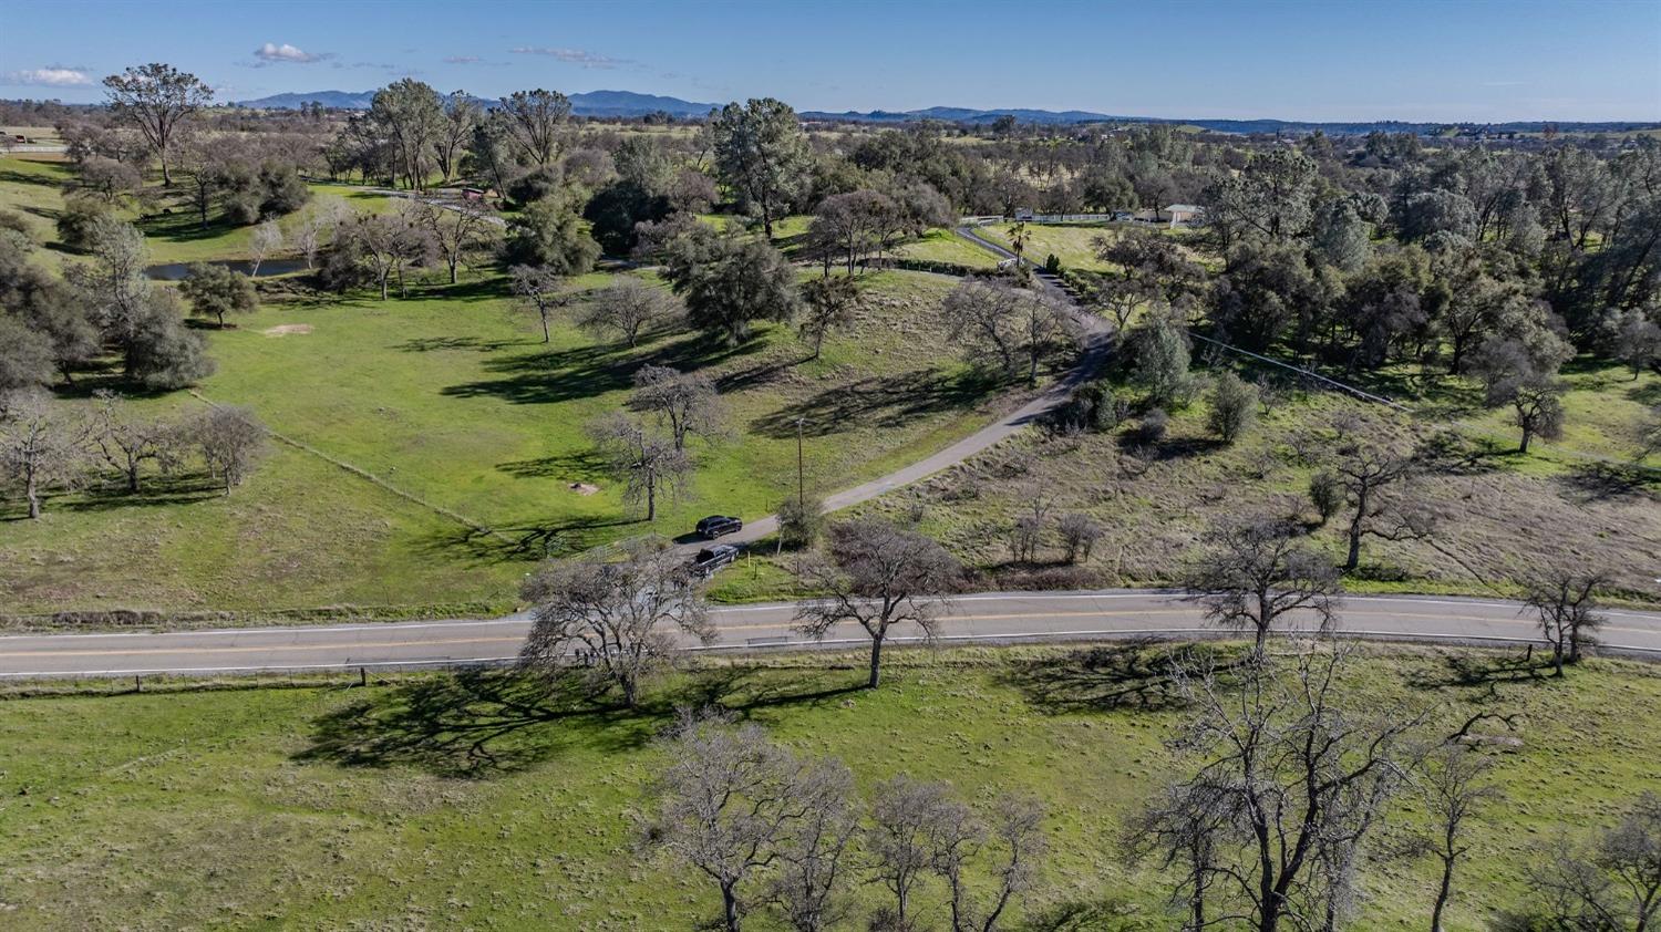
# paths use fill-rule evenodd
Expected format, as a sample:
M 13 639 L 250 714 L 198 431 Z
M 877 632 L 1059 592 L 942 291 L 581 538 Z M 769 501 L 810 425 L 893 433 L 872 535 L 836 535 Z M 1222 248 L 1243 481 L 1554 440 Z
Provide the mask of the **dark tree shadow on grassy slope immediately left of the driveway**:
M 809 437 L 840 434 L 850 425 L 899 427 L 928 414 L 970 410 L 1002 385 L 1002 379 L 975 370 L 872 375 L 757 417 L 751 430 L 786 439 L 796 435 L 797 420 Z

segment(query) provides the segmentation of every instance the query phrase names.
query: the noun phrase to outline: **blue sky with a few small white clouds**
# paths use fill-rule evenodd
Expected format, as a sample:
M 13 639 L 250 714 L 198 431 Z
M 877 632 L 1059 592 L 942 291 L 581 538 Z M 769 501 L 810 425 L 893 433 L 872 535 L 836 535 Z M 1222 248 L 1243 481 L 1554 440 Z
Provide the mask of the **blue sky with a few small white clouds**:
M 1661 0 L 0 0 L 0 96 L 93 101 L 151 60 L 223 100 L 414 75 L 799 110 L 1661 120 Z

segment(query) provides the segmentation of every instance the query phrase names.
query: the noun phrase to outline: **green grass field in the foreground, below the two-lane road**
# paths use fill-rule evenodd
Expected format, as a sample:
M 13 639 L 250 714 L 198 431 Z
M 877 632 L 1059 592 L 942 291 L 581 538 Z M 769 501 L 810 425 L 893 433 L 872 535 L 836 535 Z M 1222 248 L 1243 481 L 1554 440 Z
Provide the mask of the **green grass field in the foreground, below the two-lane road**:
M 801 753 L 845 759 L 862 787 L 904 771 L 972 799 L 1036 792 L 1053 856 L 1030 907 L 1106 904 L 1115 919 L 1091 929 L 1174 927 L 1159 876 L 1128 866 L 1115 841 L 1171 773 L 1161 743 L 1181 713 L 1163 708 L 1156 679 L 1133 676 L 1144 689 L 1121 693 L 1116 665 L 1060 650 L 899 651 L 890 681 L 867 693 L 849 689 L 859 658 L 845 660 L 711 668 L 635 716 L 439 674 L 0 701 L 7 927 L 688 929 L 716 909 L 714 889 L 633 847 L 661 766 L 648 741 L 678 701 L 741 709 Z M 1493 655 L 1380 648 L 1345 701 L 1427 708 L 1452 731 L 1493 708 L 1482 674 L 1500 668 Z M 1521 744 L 1495 753 L 1507 801 L 1475 824 L 1448 922 L 1458 932 L 1518 902 L 1531 844 L 1661 791 L 1661 734 L 1639 726 L 1661 716 L 1656 668 L 1590 661 L 1565 681 L 1495 689 L 1526 714 Z M 1563 787 L 1573 806 L 1551 801 Z M 1362 866 L 1354 929 L 1427 922 L 1430 866 L 1385 854 L 1410 809 Z M 870 907 L 879 892 L 857 895 Z M 938 889 L 920 897 L 940 920 Z M 759 914 L 747 925 L 781 927 Z

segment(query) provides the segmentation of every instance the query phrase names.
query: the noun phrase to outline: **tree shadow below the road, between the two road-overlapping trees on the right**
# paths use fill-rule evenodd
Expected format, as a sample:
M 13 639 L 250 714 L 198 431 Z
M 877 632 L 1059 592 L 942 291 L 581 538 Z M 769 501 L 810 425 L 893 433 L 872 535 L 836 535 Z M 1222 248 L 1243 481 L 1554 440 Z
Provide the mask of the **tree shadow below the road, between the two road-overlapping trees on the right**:
M 1050 714 L 1111 709 L 1164 711 L 1186 703 L 1176 688 L 1179 656 L 1138 638 L 1076 650 L 1063 658 L 1010 665 L 1005 683 Z

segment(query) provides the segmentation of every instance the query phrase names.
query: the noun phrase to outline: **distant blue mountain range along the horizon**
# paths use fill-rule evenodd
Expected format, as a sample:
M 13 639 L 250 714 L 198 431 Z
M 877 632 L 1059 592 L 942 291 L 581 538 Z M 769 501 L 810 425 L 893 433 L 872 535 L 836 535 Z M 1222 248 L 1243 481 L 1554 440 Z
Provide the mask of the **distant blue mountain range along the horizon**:
M 259 100 L 244 100 L 239 106 L 262 110 L 297 110 L 302 103 L 317 101 L 336 110 L 369 110 L 369 101 L 375 91 L 311 91 L 279 93 Z M 490 105 L 492 100 L 480 98 Z M 681 118 L 704 116 L 716 110 L 716 103 L 694 103 L 678 96 L 658 96 L 635 91 L 586 91 L 571 95 L 571 113 L 578 116 L 646 116 L 648 113 L 669 113 Z M 1448 123 L 1407 123 L 1400 120 L 1374 120 L 1349 123 L 1317 123 L 1304 120 L 1171 120 L 1159 116 L 1113 116 L 1088 110 L 972 110 L 965 106 L 930 106 L 927 110 L 847 110 L 827 113 L 809 110 L 802 120 L 842 121 L 842 123 L 915 123 L 919 120 L 940 120 L 943 123 L 968 123 L 983 126 L 1000 116 L 1013 116 L 1022 123 L 1041 123 L 1048 126 L 1066 126 L 1080 123 L 1171 123 L 1178 126 L 1199 126 L 1214 133 L 1312 133 L 1320 130 L 1330 136 L 1357 136 L 1372 131 L 1385 133 L 1433 133 L 1450 126 Z M 1616 123 L 1550 123 L 1565 133 L 1626 133 L 1648 130 L 1661 123 L 1616 121 Z M 1458 123 L 1458 126 L 1480 126 L 1492 133 L 1538 133 L 1548 126 L 1541 120 L 1520 120 L 1512 123 Z

